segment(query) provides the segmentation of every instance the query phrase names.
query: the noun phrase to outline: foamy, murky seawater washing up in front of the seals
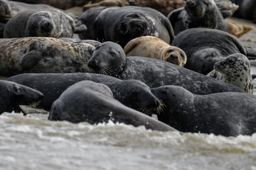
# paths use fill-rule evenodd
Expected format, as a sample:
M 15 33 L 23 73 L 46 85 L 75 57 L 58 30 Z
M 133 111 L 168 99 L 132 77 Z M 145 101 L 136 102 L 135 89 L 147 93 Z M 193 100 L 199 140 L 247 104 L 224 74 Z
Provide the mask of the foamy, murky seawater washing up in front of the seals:
M 48 120 L 48 112 L 0 116 L 0 169 L 256 169 L 256 134 L 159 132 L 112 122 Z

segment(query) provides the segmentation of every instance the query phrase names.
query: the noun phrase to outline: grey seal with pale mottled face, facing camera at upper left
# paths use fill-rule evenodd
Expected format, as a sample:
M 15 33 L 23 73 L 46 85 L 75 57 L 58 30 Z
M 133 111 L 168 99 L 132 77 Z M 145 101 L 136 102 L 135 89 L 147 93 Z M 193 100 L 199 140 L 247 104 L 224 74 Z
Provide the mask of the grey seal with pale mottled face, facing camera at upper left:
M 62 11 L 55 8 L 31 9 L 17 13 L 6 23 L 4 38 L 72 38 L 74 31 L 74 19 Z

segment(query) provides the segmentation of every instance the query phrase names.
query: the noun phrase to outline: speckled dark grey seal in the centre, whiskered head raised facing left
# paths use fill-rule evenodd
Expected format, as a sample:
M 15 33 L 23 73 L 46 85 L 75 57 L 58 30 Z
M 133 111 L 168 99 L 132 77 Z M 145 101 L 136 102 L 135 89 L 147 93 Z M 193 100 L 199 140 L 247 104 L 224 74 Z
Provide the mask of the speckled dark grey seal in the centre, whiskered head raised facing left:
M 163 85 L 183 86 L 194 94 L 213 94 L 223 91 L 243 92 L 232 84 L 206 77 L 175 64 L 148 57 L 126 57 L 120 45 L 103 42 L 87 63 L 92 72 L 107 74 L 118 79 L 137 79 L 150 88 Z

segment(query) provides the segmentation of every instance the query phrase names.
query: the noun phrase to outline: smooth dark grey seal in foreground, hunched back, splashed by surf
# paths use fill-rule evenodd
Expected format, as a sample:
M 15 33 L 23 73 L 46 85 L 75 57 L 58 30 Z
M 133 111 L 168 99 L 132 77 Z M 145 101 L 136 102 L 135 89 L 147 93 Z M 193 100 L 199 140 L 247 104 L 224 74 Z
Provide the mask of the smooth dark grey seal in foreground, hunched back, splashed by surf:
M 48 119 L 91 124 L 112 120 L 114 123 L 125 123 L 136 127 L 144 125 L 146 129 L 151 130 L 174 130 L 154 118 L 119 103 L 113 98 L 108 86 L 93 81 L 80 81 L 66 89 L 53 103 Z

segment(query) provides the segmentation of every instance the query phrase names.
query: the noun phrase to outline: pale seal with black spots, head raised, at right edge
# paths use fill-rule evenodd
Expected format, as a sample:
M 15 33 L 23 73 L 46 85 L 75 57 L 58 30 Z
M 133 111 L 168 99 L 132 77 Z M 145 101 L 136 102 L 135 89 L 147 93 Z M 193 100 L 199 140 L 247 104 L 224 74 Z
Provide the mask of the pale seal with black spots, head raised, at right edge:
M 233 54 L 216 62 L 213 71 L 208 73 L 207 76 L 238 86 L 247 94 L 253 92 L 250 61 L 245 55 Z

